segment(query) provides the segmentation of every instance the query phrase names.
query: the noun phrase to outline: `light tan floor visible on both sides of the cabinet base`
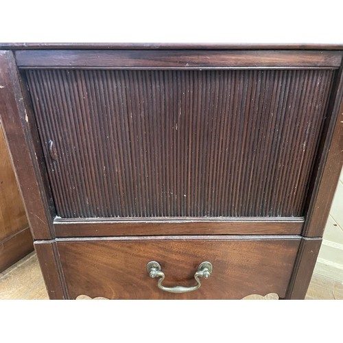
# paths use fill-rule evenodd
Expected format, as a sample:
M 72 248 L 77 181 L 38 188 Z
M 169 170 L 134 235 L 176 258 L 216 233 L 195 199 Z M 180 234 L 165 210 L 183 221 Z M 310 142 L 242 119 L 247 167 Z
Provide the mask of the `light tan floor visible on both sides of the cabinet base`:
M 342 300 L 343 283 L 314 273 L 306 298 Z M 34 252 L 0 273 L 0 299 L 48 299 Z

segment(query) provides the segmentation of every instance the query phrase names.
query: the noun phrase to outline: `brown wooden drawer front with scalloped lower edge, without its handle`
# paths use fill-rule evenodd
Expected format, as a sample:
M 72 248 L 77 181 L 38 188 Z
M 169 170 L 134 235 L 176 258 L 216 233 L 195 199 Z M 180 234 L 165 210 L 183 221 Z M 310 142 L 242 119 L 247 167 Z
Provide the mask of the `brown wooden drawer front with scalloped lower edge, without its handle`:
M 56 245 L 69 298 L 80 295 L 110 299 L 239 299 L 249 294 L 285 297 L 300 239 L 270 236 L 132 237 L 60 239 Z M 36 244 L 38 246 L 39 244 Z M 39 247 L 38 247 L 39 248 Z M 163 285 L 196 285 L 198 265 L 210 261 L 213 272 L 193 292 L 158 289 L 146 265 L 158 261 Z

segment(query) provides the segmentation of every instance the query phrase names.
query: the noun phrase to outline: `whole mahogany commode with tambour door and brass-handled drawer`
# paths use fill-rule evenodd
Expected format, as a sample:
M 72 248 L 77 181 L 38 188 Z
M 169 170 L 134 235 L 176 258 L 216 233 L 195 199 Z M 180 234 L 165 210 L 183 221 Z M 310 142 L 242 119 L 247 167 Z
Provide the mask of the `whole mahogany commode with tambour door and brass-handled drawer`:
M 304 298 L 342 167 L 342 45 L 2 44 L 49 297 Z

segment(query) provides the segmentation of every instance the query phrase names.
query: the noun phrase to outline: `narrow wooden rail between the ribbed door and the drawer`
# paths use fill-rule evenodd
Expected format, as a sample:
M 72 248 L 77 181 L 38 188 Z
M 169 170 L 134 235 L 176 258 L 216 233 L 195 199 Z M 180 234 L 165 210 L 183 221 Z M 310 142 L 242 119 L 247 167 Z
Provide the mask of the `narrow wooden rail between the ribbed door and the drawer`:
M 154 220 L 113 220 L 56 218 L 56 237 L 101 237 L 136 235 L 299 235 L 303 218 L 249 218 L 239 220 L 219 218 L 156 218 Z

